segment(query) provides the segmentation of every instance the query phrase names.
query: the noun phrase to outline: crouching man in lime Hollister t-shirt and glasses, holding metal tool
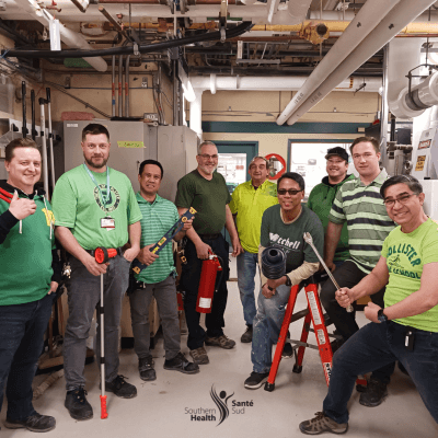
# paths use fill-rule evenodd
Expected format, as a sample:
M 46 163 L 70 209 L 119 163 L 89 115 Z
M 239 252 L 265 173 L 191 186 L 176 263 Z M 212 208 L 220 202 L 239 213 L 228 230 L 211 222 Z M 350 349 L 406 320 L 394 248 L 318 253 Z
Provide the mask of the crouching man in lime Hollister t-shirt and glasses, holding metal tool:
M 300 424 L 303 434 L 347 431 L 347 403 L 356 377 L 395 360 L 407 370 L 438 423 L 438 223 L 425 215 L 425 194 L 415 177 L 392 176 L 380 194 L 399 227 L 384 240 L 371 274 L 351 289 L 337 290 L 336 300 L 347 308 L 387 285 L 384 307 L 369 302 L 365 315 L 371 322 L 335 353 L 323 412 Z

